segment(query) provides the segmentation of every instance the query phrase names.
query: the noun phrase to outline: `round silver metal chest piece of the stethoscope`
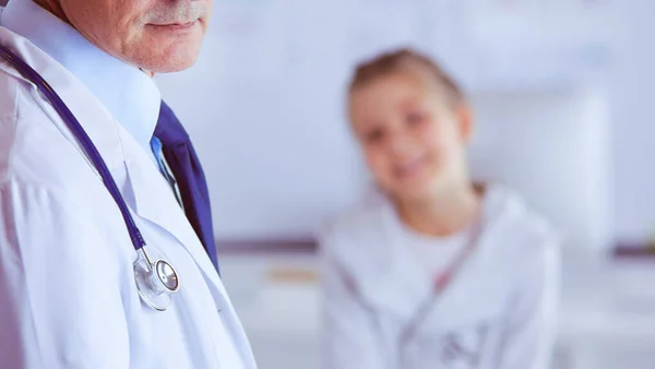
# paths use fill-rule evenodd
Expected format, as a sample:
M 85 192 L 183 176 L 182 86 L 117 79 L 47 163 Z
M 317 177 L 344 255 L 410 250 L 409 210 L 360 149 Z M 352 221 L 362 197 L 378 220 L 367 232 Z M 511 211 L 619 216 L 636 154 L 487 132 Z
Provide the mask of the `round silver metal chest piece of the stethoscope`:
M 145 247 L 138 250 L 134 262 L 134 279 L 139 296 L 147 306 L 165 311 L 172 301 L 172 294 L 180 287 L 177 272 L 165 260 L 151 261 Z

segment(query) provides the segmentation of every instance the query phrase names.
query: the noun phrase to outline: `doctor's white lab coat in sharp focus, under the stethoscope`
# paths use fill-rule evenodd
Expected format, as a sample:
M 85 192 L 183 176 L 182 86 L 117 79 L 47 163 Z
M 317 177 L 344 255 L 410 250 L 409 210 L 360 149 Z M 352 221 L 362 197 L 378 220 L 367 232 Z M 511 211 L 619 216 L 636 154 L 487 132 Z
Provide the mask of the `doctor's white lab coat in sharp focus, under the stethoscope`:
M 255 368 L 196 235 L 148 154 L 86 87 L 26 39 L 0 43 L 67 103 L 107 163 L 150 247 L 180 289 L 140 300 L 121 214 L 52 107 L 0 62 L 0 368 Z

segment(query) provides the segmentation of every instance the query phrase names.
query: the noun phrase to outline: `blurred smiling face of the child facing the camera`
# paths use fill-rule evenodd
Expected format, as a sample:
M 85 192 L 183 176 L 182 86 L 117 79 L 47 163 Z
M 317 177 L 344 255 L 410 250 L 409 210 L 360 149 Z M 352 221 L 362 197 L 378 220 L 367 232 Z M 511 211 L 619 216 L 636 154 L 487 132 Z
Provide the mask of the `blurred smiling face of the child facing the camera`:
M 350 119 L 378 183 L 400 199 L 425 199 L 465 174 L 469 131 L 465 109 L 408 73 L 381 76 L 355 90 Z

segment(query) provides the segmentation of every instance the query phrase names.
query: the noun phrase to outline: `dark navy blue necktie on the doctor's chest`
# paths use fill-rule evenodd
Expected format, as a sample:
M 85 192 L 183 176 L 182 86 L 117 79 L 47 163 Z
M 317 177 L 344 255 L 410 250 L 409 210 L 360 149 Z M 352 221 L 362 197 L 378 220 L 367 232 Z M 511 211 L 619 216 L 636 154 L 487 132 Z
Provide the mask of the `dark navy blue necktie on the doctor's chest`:
M 164 102 L 154 135 L 160 141 L 166 163 L 177 181 L 187 218 L 218 270 L 205 176 L 189 134 Z

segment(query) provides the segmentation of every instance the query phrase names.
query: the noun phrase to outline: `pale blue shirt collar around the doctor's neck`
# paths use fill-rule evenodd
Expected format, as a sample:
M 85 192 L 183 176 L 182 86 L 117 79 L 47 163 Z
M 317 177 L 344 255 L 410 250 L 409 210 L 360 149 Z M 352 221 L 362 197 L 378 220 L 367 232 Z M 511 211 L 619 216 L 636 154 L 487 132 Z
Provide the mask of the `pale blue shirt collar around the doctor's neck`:
M 32 0 L 9 1 L 0 12 L 0 25 L 27 38 L 80 79 L 150 152 L 162 102 L 152 78 L 100 50 Z

